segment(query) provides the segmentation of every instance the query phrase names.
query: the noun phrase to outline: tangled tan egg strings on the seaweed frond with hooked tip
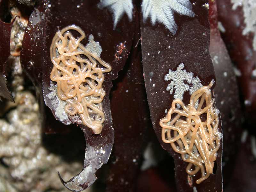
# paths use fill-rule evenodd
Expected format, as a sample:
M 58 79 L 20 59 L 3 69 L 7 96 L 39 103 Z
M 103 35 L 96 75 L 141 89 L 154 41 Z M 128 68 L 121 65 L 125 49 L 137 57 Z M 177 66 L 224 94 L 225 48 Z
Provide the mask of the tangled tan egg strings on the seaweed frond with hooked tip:
M 80 36 L 75 38 L 71 30 Z M 50 47 L 51 80 L 57 82 L 58 97 L 67 102 L 65 112 L 70 116 L 78 114 L 82 124 L 99 134 L 105 121 L 103 73 L 111 71 L 111 66 L 80 43 L 84 38 L 84 31 L 75 25 L 56 32 Z

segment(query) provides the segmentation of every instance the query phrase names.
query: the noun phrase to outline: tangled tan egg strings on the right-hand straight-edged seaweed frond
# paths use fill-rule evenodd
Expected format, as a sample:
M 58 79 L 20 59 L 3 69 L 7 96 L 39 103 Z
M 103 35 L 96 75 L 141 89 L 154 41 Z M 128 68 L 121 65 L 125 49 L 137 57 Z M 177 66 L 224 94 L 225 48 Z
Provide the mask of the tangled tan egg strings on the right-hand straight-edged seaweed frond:
M 173 150 L 181 154 L 182 160 L 189 163 L 186 172 L 194 175 L 201 170 L 202 177 L 196 180 L 197 184 L 213 173 L 222 138 L 218 130 L 219 111 L 213 107 L 214 99 L 210 90 L 213 83 L 195 91 L 188 106 L 180 99 L 173 100 L 166 117 L 160 120 L 162 140 L 170 143 Z M 199 104 L 195 107 L 197 101 Z M 176 104 L 182 109 L 176 108 Z

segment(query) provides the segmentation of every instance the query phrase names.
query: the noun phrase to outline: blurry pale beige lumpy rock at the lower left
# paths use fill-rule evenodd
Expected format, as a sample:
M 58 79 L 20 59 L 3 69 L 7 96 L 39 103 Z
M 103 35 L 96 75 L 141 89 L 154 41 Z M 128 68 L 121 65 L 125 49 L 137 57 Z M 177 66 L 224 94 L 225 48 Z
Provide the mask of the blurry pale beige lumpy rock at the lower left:
M 59 179 L 56 172 L 70 178 L 82 164 L 77 160 L 65 161 L 54 152 L 54 147 L 49 150 L 45 141 L 51 142 L 51 137 L 44 137 L 41 131 L 35 96 L 28 91 L 16 92 L 15 104 L 5 118 L 0 118 L 0 160 L 5 164 L 0 164 L 1 192 L 66 191 L 56 182 Z M 75 151 L 68 154 L 78 155 Z

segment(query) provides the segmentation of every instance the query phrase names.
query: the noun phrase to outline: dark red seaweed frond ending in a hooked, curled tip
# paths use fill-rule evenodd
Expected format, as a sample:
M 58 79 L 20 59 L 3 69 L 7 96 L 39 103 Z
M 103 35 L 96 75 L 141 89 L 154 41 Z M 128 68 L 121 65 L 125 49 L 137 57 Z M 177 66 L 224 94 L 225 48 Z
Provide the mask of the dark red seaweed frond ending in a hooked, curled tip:
M 114 129 L 112 127 L 109 94 L 112 88 L 112 80 L 117 78 L 118 71 L 123 69 L 124 64 L 126 63 L 128 57 L 128 54 L 126 54 L 126 52 L 129 52 L 131 49 L 135 25 L 134 23 L 130 23 L 129 20 L 124 17 L 120 20 L 120 23 L 122 23 L 122 25 L 118 27 L 117 31 L 113 30 L 113 26 L 109 25 L 109 23 L 112 23 L 112 15 L 108 14 L 108 12 L 101 11 L 97 6 L 96 1 L 84 1 L 83 3 L 81 3 L 80 0 L 75 0 L 72 2 L 66 0 L 59 0 L 51 1 L 51 3 L 49 4 L 48 1 L 43 0 L 37 1 L 36 7 L 29 18 L 29 30 L 26 31 L 26 33 L 24 34 L 22 44 L 23 47 L 20 54 L 21 64 L 29 77 L 31 77 L 32 81 L 37 85 L 38 94 L 41 97 L 42 108 L 44 108 L 46 104 L 46 106 L 51 109 L 53 116 L 55 116 L 56 119 L 60 121 L 61 119 L 58 118 L 58 116 L 60 116 L 60 110 L 57 110 L 60 100 L 56 99 L 57 95 L 54 96 L 54 92 L 52 93 L 56 84 L 51 81 L 51 70 L 53 65 L 50 57 L 50 46 L 52 44 L 52 38 L 54 37 L 56 32 L 67 26 L 79 26 L 86 35 L 86 38 L 84 38 L 83 42 L 81 43 L 83 43 L 84 45 L 86 43 L 89 43 L 89 38 L 92 35 L 95 42 L 99 42 L 100 46 L 102 47 L 102 53 L 100 54 L 100 58 L 106 63 L 111 64 L 112 67 L 111 71 L 107 71 L 106 67 L 102 67 L 100 65 L 102 64 L 101 60 L 94 60 L 91 56 L 89 56 L 91 62 L 95 64 L 95 68 L 99 67 L 102 71 L 106 72 L 104 73 L 105 79 L 102 84 L 106 95 L 104 96 L 104 98 L 101 96 L 103 100 L 102 105 L 100 106 L 104 109 L 104 115 L 106 118 L 104 123 L 102 124 L 102 131 L 100 132 L 100 134 L 94 134 L 92 130 L 88 128 L 88 126 L 85 126 L 82 123 L 83 121 L 79 115 L 71 116 L 70 114 L 67 114 L 65 110 L 63 110 L 61 113 L 65 114 L 65 116 L 68 116 L 68 118 L 65 118 L 61 122 L 65 125 L 72 123 L 78 124 L 80 128 L 84 131 L 84 136 L 86 139 L 86 154 L 84 158 L 83 170 L 78 175 L 71 178 L 69 181 L 63 181 L 61 179 L 64 186 L 71 191 L 81 191 L 92 185 L 92 183 L 97 179 L 95 176 L 97 170 L 100 169 L 103 164 L 106 164 L 108 162 L 108 158 L 110 156 L 114 143 Z M 77 38 L 78 34 L 76 31 L 69 30 L 69 32 L 70 38 L 72 38 L 72 36 L 74 38 Z M 64 42 L 66 41 L 64 38 L 62 40 Z M 72 41 L 70 41 L 68 45 L 71 45 L 71 42 Z M 120 44 L 120 42 L 124 43 Z M 97 43 L 95 43 L 94 45 L 97 45 Z M 117 48 L 116 45 L 118 45 Z M 80 48 L 81 50 L 83 50 L 82 47 Z M 77 50 L 79 51 L 79 49 Z M 86 50 L 84 50 L 84 52 L 86 52 Z M 118 56 L 119 58 L 118 62 L 115 61 L 115 54 L 117 54 L 116 56 Z M 97 55 L 94 54 L 93 57 L 97 58 Z M 83 58 L 77 59 L 82 60 Z M 30 62 L 34 63 L 33 68 L 29 68 L 28 63 Z M 78 67 L 81 65 L 78 63 L 74 62 L 72 63 L 72 66 L 78 69 Z M 58 66 L 58 68 L 59 67 L 60 66 Z M 74 70 L 73 72 L 76 73 Z M 65 73 L 67 73 L 67 70 L 65 70 L 64 74 Z M 67 74 L 70 74 L 70 72 L 68 72 Z M 93 78 L 95 78 L 94 75 L 92 76 L 92 79 Z M 84 82 L 83 85 L 85 86 L 85 88 L 82 87 L 84 89 L 84 92 L 86 92 L 86 83 L 90 84 L 91 82 Z M 68 84 L 66 84 L 65 82 L 61 89 L 66 90 L 66 85 L 68 87 Z M 95 86 L 98 85 L 100 84 L 95 83 Z M 58 87 L 57 89 L 59 88 L 60 87 Z M 70 97 L 73 93 L 74 92 L 71 90 L 70 94 L 68 93 L 68 96 Z M 49 95 L 51 97 L 49 97 Z M 95 101 L 97 100 L 95 99 Z M 70 107 L 68 109 L 70 109 Z M 78 109 L 80 110 L 81 108 Z M 89 113 L 92 112 L 91 109 L 88 109 L 88 111 Z M 100 109 L 100 111 L 102 110 Z M 82 112 L 82 110 L 80 112 Z M 91 115 L 93 118 L 98 118 L 98 116 L 95 114 Z M 43 121 L 47 122 L 47 117 L 43 116 L 43 118 Z M 54 129 L 56 128 L 52 127 L 52 130 Z

